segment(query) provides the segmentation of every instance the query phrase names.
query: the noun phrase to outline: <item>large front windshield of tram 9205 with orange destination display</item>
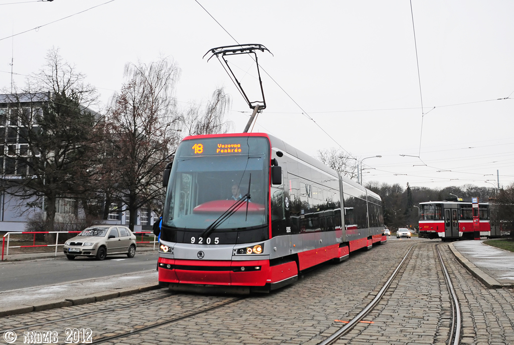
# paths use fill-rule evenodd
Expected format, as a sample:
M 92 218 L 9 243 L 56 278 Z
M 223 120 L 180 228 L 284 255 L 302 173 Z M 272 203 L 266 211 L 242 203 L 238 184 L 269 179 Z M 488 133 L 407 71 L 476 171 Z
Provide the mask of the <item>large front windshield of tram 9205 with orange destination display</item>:
M 266 226 L 269 150 L 262 137 L 182 142 L 173 161 L 163 224 L 203 231 L 249 193 L 249 202 L 238 203 L 215 231 Z

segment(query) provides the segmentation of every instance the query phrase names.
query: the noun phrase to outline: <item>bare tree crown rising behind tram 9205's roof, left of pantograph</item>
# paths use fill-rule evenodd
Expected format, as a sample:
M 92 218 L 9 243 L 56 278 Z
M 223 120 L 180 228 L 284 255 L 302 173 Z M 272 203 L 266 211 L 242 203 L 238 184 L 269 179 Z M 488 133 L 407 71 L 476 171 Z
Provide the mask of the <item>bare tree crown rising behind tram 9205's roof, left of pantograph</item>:
M 182 117 L 183 127 L 190 136 L 227 133 L 231 129 L 231 123 L 225 120 L 225 114 L 231 102 L 225 89 L 217 88 L 203 110 L 193 103 L 189 105 Z

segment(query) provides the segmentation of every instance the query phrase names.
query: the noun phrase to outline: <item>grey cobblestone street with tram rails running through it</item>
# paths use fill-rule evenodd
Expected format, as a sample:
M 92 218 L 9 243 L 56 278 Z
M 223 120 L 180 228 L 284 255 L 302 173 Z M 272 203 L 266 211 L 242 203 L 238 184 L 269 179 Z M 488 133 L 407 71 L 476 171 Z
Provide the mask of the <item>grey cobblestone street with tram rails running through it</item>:
M 339 344 L 444 344 L 451 302 L 435 245 L 439 241 L 405 240 L 375 245 L 339 264 L 326 264 L 283 289 L 251 295 L 219 309 L 113 340 L 116 344 L 317 344 L 358 314 L 381 289 L 412 244 L 413 251 L 384 298 Z M 514 297 L 509 289 L 487 289 L 448 249 L 439 245 L 461 303 L 461 343 L 514 343 Z M 159 299 L 154 299 L 160 297 Z M 107 301 L 68 306 L 0 319 L 0 329 L 57 331 L 91 329 L 93 341 L 201 311 L 234 296 L 171 294 L 161 289 Z M 134 304 L 137 303 L 137 304 Z M 103 309 L 101 313 L 60 320 Z M 49 322 L 42 325 L 42 322 Z M 30 327 L 30 324 L 33 326 Z M 27 326 L 29 325 L 29 326 Z M 22 336 L 20 336 L 22 335 Z

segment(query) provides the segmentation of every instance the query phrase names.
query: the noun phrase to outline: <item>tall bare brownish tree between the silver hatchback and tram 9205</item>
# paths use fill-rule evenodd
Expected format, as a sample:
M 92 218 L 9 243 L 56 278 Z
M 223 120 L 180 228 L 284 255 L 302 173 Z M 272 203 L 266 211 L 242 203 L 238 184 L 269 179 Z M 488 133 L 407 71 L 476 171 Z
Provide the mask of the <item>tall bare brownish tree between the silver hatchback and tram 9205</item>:
M 106 164 L 113 197 L 126 204 L 129 227 L 137 210 L 163 195 L 162 171 L 178 142 L 174 90 L 180 70 L 169 59 L 127 64 L 126 82 L 108 112 Z

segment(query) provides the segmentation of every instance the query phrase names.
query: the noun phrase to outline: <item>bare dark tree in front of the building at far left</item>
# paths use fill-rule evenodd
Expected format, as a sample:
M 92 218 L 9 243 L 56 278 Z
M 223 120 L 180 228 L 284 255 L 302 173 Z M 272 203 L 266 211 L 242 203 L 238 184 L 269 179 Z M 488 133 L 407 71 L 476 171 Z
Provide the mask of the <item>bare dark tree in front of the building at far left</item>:
M 95 104 L 97 92 L 84 80 L 58 49 L 51 49 L 44 68 L 2 101 L 8 103 L 5 123 L 10 125 L 0 143 L 5 191 L 34 205 L 44 203 L 47 231 L 54 228 L 57 200 L 75 196 L 79 166 L 94 144 L 98 116 L 87 107 Z

